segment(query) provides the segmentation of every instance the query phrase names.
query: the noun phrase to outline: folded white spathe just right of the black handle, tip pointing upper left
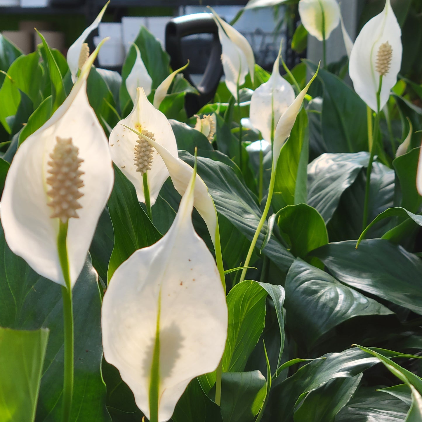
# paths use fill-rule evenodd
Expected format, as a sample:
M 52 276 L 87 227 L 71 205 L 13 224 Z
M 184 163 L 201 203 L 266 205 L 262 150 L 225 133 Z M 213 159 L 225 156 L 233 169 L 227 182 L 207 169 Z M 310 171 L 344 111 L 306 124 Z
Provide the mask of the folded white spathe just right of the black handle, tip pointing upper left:
M 208 6 L 218 27 L 218 36 L 222 46 L 221 61 L 223 64 L 227 89 L 237 100 L 238 87 L 245 83 L 249 73 L 254 82 L 255 58 L 248 40 L 230 24 L 223 21 L 215 11 Z

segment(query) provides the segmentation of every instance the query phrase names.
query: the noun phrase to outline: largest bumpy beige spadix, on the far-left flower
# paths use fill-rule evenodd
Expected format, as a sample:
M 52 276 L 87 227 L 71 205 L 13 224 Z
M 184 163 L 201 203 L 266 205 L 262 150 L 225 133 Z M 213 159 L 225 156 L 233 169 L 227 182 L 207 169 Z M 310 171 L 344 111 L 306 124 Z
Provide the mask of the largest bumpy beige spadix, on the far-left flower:
M 56 137 L 57 143 L 50 154 L 47 184 L 51 187 L 47 195 L 51 201 L 47 203 L 53 209 L 51 218 L 60 218 L 65 223 L 69 218 L 79 218 L 76 210 L 82 208 L 78 199 L 84 194 L 81 188 L 84 181 L 81 176 L 83 171 L 79 170 L 84 161 L 78 157 L 79 149 L 73 145 L 72 138 Z

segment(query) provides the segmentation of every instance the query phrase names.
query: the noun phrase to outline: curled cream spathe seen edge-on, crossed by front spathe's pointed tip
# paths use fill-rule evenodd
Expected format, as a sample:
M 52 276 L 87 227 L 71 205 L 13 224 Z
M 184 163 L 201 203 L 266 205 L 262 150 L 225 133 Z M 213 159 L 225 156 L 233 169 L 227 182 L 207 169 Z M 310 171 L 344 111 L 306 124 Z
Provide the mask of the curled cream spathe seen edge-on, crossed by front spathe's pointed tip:
M 128 130 L 131 130 L 133 133 L 137 135 L 141 135 L 136 130 L 133 130 L 130 127 L 126 127 Z M 159 144 L 157 141 L 154 141 L 151 138 L 146 138 L 151 146 L 160 154 L 162 160 L 164 161 L 168 173 L 170 173 L 171 181 L 177 192 L 180 195 L 183 195 L 187 189 L 189 184 L 189 180 L 192 177 L 193 168 L 181 160 L 179 157 L 174 156 L 171 152 L 164 146 Z M 214 245 L 216 244 L 216 235 L 217 235 L 217 212 L 214 205 L 214 201 L 211 198 L 210 194 L 208 193 L 208 188 L 204 181 L 200 178 L 200 176 L 196 175 L 196 182 L 195 182 L 195 196 L 193 206 L 196 208 L 200 216 L 205 221 L 207 225 L 208 231 L 211 236 L 211 240 L 213 241 Z

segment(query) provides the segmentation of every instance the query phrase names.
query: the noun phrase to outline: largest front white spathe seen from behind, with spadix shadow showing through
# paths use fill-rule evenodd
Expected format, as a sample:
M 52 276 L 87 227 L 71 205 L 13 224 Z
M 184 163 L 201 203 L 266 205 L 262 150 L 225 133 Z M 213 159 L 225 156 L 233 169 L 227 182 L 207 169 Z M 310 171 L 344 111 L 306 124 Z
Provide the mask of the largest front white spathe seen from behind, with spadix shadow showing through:
M 168 421 L 189 381 L 216 369 L 227 338 L 216 263 L 192 225 L 194 183 L 166 235 L 123 262 L 103 298 L 104 357 L 151 421 Z

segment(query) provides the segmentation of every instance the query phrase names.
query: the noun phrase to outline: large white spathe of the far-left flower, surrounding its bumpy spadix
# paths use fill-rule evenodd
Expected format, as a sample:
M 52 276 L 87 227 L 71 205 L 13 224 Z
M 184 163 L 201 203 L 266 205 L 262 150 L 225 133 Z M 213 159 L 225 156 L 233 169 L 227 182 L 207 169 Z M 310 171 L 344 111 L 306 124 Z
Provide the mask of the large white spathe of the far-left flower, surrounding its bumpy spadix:
M 59 217 L 63 215 L 54 216 L 55 207 L 51 206 L 54 180 L 49 178 L 55 174 L 60 179 L 65 171 L 74 173 L 74 179 L 70 175 L 66 179 L 69 182 L 66 189 L 72 197 L 62 196 L 64 203 L 67 200 L 78 203 L 75 208 L 78 218 L 70 216 L 68 219 L 67 250 L 72 286 L 82 270 L 114 181 L 107 138 L 87 97 L 87 77 L 102 43 L 83 66 L 81 76 L 63 104 L 16 151 L 1 200 L 0 216 L 10 249 L 38 274 L 64 286 L 57 250 Z M 56 164 L 51 164 L 54 159 L 50 154 L 54 156 L 57 138 L 71 139 L 77 149 L 77 152 L 73 149 L 72 154 L 76 154 L 73 161 L 66 162 L 65 155 L 62 164 L 57 164 L 60 157 L 56 157 Z M 51 172 L 52 169 L 57 171 Z

